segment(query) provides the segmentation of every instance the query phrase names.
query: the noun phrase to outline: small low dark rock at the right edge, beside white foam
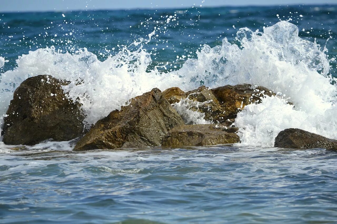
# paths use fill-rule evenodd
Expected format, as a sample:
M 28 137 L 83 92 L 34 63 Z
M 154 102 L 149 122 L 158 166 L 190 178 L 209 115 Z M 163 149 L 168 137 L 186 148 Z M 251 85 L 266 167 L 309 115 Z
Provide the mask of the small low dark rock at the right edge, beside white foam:
M 277 135 L 274 146 L 287 149 L 325 148 L 337 150 L 337 140 L 328 139 L 298 128 L 288 128 Z

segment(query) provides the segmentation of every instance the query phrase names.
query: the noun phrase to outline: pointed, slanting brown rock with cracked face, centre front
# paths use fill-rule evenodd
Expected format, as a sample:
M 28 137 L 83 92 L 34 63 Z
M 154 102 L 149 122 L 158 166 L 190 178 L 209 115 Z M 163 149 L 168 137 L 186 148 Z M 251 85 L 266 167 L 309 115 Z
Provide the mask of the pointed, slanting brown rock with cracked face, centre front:
M 168 130 L 184 121 L 158 88 L 97 121 L 74 150 L 160 146 Z

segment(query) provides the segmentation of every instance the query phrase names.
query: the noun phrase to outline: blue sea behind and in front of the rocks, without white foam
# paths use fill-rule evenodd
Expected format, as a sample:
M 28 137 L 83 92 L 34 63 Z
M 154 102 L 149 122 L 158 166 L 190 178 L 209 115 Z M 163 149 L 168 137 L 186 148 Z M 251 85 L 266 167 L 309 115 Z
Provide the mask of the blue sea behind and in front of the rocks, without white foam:
M 174 14 L 179 25 L 153 22 Z M 177 70 L 186 60 L 177 55 L 195 58 L 205 43 L 237 42 L 239 28 L 262 31 L 278 17 L 291 17 L 302 38 L 323 46 L 331 36 L 328 58 L 337 56 L 336 5 L 0 13 L 0 56 L 9 61 L 1 73 L 19 55 L 51 45 L 71 53 L 86 47 L 104 61 L 154 26 L 162 32 L 144 45 L 153 53 L 148 70 L 166 62 L 162 71 Z M 336 61 L 330 65 L 336 76 Z M 336 152 L 72 147 L 45 141 L 14 151 L 0 142 L 0 223 L 337 222 Z

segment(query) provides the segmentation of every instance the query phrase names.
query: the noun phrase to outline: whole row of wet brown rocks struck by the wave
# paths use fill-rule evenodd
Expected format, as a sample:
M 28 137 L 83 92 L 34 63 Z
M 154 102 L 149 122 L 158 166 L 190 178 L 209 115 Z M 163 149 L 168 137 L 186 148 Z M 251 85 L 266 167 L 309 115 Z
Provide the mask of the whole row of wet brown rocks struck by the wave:
M 15 90 L 2 130 L 3 142 L 33 145 L 46 139 L 80 139 L 74 150 L 144 147 L 183 147 L 240 142 L 233 127 L 237 113 L 275 93 L 264 87 L 225 85 L 200 86 L 184 92 L 178 87 L 161 92 L 154 88 L 130 100 L 130 104 L 99 120 L 84 136 L 85 116 L 81 104 L 73 103 L 62 86 L 69 83 L 48 75 L 28 78 Z M 186 110 L 200 112 L 209 124 L 184 122 L 173 106 L 193 102 Z M 281 131 L 275 139 L 280 148 L 326 148 L 337 150 L 337 140 L 301 129 Z

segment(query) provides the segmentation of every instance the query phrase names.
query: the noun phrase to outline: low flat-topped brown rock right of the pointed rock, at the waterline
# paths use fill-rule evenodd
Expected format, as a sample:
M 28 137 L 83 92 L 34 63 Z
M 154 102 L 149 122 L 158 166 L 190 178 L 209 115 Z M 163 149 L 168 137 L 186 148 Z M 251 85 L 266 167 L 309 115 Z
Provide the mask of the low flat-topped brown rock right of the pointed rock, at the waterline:
M 163 147 L 207 146 L 240 142 L 236 127 L 221 124 L 195 124 L 174 127 L 163 139 Z

